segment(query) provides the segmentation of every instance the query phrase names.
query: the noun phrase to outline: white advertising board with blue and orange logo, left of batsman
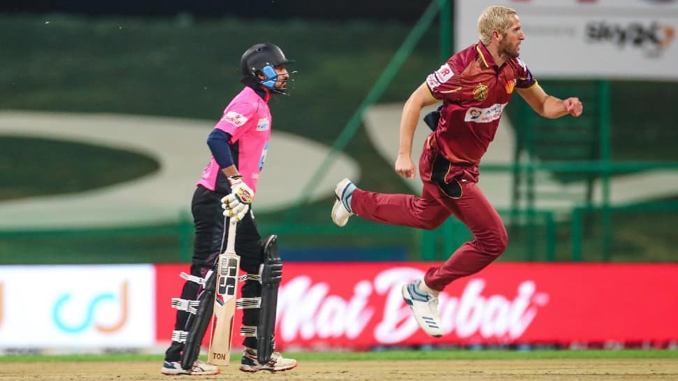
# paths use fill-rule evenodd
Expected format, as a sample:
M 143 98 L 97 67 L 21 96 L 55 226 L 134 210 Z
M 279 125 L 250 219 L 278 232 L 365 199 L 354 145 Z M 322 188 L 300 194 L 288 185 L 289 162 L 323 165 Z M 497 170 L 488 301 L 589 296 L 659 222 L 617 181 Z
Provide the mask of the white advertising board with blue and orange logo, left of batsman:
M 0 266 L 0 347 L 151 347 L 153 266 Z

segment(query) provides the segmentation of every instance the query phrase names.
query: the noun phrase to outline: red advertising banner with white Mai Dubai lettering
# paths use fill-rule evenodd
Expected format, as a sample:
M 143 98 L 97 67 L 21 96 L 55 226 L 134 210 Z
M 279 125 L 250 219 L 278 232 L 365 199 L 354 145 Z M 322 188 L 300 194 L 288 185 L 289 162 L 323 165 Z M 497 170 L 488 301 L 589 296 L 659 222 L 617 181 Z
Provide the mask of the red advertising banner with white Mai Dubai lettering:
M 287 263 L 279 347 L 417 344 L 668 343 L 678 340 L 678 264 L 496 263 L 440 294 L 441 338 L 401 297 L 430 263 Z M 157 338 L 169 340 L 186 265 L 157 266 Z M 238 296 L 239 297 L 239 296 Z M 236 340 L 240 313 L 236 315 Z M 207 341 L 205 341 L 207 343 Z

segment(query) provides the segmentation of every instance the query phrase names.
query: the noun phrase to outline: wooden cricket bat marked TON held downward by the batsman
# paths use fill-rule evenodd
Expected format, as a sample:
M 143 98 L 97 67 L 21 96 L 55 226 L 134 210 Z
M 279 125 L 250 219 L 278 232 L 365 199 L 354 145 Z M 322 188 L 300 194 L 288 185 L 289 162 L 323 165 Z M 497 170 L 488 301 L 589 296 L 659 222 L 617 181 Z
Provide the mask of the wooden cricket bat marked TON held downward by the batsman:
M 238 289 L 238 268 L 240 256 L 236 254 L 236 226 L 231 218 L 226 251 L 219 254 L 217 265 L 217 289 L 215 290 L 212 336 L 208 363 L 218 366 L 229 365 L 231 358 L 231 336 L 233 317 L 236 315 L 236 290 Z

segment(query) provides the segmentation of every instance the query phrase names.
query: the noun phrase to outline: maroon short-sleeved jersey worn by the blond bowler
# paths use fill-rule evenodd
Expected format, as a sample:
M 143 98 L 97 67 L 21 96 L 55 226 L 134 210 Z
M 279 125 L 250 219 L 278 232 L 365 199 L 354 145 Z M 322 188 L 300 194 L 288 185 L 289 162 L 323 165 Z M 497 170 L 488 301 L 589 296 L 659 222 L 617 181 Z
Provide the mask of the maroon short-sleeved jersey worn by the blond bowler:
M 535 83 L 521 59 L 499 67 L 482 42 L 457 52 L 426 78 L 433 97 L 443 101 L 431 143 L 452 163 L 478 164 L 514 88 Z

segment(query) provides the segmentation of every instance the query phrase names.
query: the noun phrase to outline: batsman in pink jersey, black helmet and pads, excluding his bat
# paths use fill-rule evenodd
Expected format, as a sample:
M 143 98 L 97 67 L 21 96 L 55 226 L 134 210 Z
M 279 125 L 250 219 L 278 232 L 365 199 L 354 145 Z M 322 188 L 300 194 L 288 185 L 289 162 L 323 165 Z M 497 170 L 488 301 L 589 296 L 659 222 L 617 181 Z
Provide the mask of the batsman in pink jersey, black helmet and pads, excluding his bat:
M 191 273 L 182 275 L 187 281 L 181 298 L 173 299 L 172 306 L 178 312 L 172 343 L 161 369 L 165 375 L 219 373 L 217 366 L 197 357 L 215 303 L 212 270 L 224 251 L 227 240 L 224 227 L 230 219 L 238 221 L 235 251 L 240 256 L 240 270 L 246 273 L 240 277 L 242 299 L 238 300 L 238 308 L 243 309 L 240 335 L 245 336 L 240 371 L 287 371 L 297 365 L 296 360 L 273 351 L 275 302 L 282 264 L 274 264 L 275 271 L 267 269 L 267 258 L 279 260 L 277 240 L 271 236 L 262 243 L 251 209 L 271 137 L 273 120 L 268 101 L 271 96 L 286 94 L 290 80 L 286 66 L 291 62 L 272 43 L 247 49 L 240 59 L 240 82 L 245 87 L 226 106 L 207 138 L 212 157 L 193 195 L 196 236 Z M 276 287 L 262 296 L 262 284 L 270 284 L 271 277 L 275 277 Z M 257 353 L 262 348 L 267 352 L 263 362 L 259 361 L 262 353 Z

